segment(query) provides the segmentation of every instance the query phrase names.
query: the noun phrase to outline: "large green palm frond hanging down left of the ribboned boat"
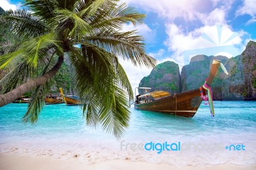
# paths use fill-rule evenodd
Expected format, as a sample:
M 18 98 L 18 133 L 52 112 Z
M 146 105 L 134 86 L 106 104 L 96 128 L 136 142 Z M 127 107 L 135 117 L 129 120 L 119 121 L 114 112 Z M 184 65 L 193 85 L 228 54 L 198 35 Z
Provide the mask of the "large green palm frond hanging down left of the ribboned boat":
M 83 56 L 79 51 L 72 50 L 70 58 L 76 68 L 79 96 L 87 102 L 83 106 L 87 107 L 84 108 L 86 121 L 88 125 L 95 126 L 100 120 L 104 130 L 120 137 L 128 125 L 129 102 L 127 93 L 119 86 L 121 83 L 132 95 L 131 85 L 124 70 L 109 52 L 93 45 L 82 45 L 82 52 Z

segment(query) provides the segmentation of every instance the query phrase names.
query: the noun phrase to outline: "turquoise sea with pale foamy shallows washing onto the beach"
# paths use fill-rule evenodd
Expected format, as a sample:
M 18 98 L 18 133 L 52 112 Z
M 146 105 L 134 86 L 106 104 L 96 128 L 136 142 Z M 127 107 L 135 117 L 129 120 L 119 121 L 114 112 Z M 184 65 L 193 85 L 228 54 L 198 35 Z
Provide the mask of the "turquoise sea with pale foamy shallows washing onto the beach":
M 193 118 L 131 105 L 120 139 L 86 125 L 79 105 L 45 105 L 34 124 L 22 122 L 27 104 L 0 108 L 0 153 L 67 159 L 84 164 L 121 159 L 155 164 L 213 166 L 256 164 L 256 102 L 214 101 L 215 116 L 202 103 Z

